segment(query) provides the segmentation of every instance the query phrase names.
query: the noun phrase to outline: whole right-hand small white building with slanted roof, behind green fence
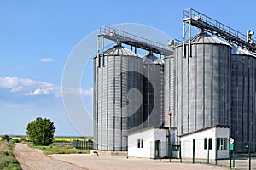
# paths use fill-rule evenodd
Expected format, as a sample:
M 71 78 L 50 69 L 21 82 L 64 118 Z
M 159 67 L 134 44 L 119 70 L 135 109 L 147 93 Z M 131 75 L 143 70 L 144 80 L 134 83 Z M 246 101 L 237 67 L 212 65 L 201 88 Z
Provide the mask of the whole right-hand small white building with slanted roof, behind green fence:
M 182 157 L 193 157 L 193 139 L 195 141 L 195 159 L 229 158 L 230 129 L 226 126 L 205 127 L 180 136 Z M 216 156 L 217 153 L 217 156 Z

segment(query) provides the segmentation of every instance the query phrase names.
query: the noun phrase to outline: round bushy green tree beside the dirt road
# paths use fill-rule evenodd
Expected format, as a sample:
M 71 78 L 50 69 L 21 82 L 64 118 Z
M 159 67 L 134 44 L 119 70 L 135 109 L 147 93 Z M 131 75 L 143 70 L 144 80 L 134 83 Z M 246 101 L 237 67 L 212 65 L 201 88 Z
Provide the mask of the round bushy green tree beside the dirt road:
M 38 117 L 27 124 L 26 134 L 35 145 L 49 145 L 54 141 L 54 123 L 49 119 Z

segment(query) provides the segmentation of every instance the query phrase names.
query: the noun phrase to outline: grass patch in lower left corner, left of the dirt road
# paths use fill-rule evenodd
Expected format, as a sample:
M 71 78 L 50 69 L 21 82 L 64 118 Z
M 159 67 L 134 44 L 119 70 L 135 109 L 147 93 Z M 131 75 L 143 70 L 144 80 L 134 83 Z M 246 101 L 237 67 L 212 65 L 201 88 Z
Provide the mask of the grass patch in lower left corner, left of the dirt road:
M 1 142 L 0 146 L 0 169 L 3 170 L 21 170 L 20 163 L 15 159 L 13 153 L 14 143 L 12 140 L 9 143 Z

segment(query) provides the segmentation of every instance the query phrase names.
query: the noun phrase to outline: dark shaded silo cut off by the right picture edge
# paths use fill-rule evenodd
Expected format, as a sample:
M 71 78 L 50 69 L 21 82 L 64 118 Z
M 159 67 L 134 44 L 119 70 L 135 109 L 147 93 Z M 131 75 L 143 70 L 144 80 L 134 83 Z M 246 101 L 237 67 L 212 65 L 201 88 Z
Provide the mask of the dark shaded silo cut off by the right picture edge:
M 255 144 L 256 132 L 256 56 L 235 48 L 231 56 L 231 124 L 230 136 L 238 152 L 247 151 L 244 144 Z M 255 146 L 252 144 L 253 150 Z

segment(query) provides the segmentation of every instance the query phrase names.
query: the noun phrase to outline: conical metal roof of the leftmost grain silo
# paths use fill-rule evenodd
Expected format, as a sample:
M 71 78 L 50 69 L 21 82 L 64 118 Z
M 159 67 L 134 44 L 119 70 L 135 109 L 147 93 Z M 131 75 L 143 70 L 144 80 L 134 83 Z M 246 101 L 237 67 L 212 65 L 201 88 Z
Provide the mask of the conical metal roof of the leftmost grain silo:
M 109 48 L 107 51 L 104 52 L 105 56 L 136 56 L 139 57 L 137 54 L 133 53 L 131 50 L 124 48 L 120 44 L 113 46 L 113 48 Z

